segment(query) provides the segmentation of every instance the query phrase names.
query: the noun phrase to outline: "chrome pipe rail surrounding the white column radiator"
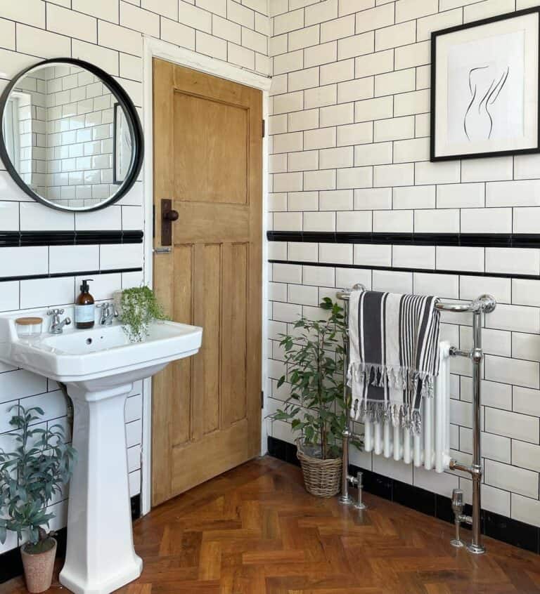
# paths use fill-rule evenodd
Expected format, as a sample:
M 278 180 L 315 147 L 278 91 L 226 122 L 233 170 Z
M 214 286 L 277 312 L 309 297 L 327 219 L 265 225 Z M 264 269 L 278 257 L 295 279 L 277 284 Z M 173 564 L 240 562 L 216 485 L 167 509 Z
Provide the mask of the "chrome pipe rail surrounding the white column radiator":
M 344 289 L 338 291 L 337 297 L 344 302 L 345 320 L 348 319 L 349 311 L 349 296 L 351 291 L 365 291 L 366 287 L 362 284 L 355 284 L 352 289 Z M 442 312 L 457 312 L 457 313 L 473 313 L 473 348 L 471 350 L 461 350 L 457 347 L 452 347 L 450 355 L 453 357 L 468 357 L 473 362 L 473 463 L 470 466 L 465 466 L 458 461 L 452 459 L 449 463 L 450 470 L 461 470 L 461 472 L 468 473 L 473 479 L 473 515 L 466 516 L 461 513 L 456 515 L 456 529 L 459 528 L 461 522 L 471 524 L 473 538 L 468 544 L 467 548 L 470 553 L 485 553 L 485 547 L 482 544 L 482 532 L 480 529 L 480 487 L 482 484 L 482 460 L 480 456 L 480 389 L 481 389 L 481 366 L 484 352 L 482 351 L 482 314 L 491 313 L 496 308 L 495 298 L 491 295 L 481 295 L 474 301 L 469 303 L 445 303 L 444 301 L 437 301 L 435 303 L 437 310 Z M 347 368 L 349 367 L 349 336 L 348 332 L 345 336 L 345 364 L 343 366 L 344 378 L 344 400 L 345 407 L 349 407 L 349 388 L 347 386 Z M 351 496 L 349 496 L 349 482 L 351 484 L 359 484 L 357 477 L 349 475 L 349 440 L 353 437 L 352 421 L 349 418 L 347 427 L 343 431 L 342 447 L 342 489 L 340 502 L 349 505 L 354 503 Z M 453 499 L 455 495 L 453 494 Z M 364 507 L 364 506 L 362 506 Z M 454 546 L 463 546 L 463 542 L 456 537 L 452 541 Z

